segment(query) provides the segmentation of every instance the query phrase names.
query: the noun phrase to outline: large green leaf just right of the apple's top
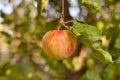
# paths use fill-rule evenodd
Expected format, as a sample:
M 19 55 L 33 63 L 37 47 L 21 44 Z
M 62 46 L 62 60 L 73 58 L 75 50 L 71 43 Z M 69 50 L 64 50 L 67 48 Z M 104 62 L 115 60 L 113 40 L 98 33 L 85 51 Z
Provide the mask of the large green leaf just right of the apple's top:
M 78 36 L 80 42 L 91 48 L 99 48 L 102 44 L 100 31 L 94 26 L 76 23 L 70 30 Z

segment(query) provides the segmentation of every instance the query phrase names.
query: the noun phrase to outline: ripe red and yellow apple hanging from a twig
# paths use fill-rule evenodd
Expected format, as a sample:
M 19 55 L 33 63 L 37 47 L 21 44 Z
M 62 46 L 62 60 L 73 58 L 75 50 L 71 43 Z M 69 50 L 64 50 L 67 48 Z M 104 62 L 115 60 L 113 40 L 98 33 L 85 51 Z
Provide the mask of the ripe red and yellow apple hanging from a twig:
M 42 47 L 45 53 L 55 60 L 70 57 L 74 53 L 76 45 L 76 37 L 69 30 L 51 30 L 42 39 Z

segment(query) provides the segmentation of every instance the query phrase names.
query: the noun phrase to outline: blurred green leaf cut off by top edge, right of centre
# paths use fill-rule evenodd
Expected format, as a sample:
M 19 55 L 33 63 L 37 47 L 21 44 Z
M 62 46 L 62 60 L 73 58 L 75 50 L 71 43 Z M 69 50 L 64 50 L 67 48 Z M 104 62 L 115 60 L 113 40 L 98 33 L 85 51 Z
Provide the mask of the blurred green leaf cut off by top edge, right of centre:
M 102 0 L 82 0 L 81 4 L 91 10 L 99 11 L 102 7 Z

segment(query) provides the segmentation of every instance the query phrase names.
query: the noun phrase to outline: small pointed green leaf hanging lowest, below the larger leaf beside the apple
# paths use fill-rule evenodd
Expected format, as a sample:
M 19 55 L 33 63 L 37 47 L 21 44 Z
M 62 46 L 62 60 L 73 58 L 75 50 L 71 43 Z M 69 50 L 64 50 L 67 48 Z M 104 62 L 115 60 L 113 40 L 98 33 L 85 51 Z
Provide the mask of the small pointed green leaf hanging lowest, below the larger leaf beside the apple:
M 105 50 L 93 49 L 94 55 L 102 62 L 113 63 L 112 56 Z

